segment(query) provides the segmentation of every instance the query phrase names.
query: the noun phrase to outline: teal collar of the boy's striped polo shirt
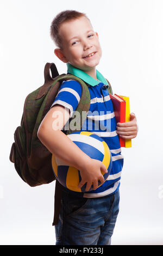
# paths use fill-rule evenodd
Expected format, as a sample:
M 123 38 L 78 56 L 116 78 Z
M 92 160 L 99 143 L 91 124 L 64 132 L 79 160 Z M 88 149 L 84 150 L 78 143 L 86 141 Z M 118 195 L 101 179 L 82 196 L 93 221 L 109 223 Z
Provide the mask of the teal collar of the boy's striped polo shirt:
M 86 74 L 83 70 L 77 69 L 74 66 L 72 66 L 70 63 L 67 63 L 67 72 L 81 78 L 84 82 L 90 84 L 91 86 L 97 86 L 99 83 L 107 84 L 108 82 L 105 80 L 103 75 L 96 69 L 96 76 L 99 81 L 97 81 L 95 78 L 91 77 L 90 75 Z

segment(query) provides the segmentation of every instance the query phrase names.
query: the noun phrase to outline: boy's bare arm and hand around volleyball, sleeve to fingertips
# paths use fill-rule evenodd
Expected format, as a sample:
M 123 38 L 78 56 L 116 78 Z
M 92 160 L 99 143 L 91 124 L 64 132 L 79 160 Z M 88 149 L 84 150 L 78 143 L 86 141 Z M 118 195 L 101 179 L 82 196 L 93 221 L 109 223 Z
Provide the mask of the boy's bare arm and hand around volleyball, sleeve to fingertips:
M 61 131 L 69 118 L 69 109 L 55 105 L 43 118 L 37 131 L 37 137 L 52 154 L 67 163 L 68 166 L 80 170 L 82 180 L 78 187 L 82 187 L 87 182 L 86 191 L 89 191 L 92 183 L 93 190 L 96 190 L 98 180 L 104 182 L 101 170 L 104 173 L 108 170 L 101 161 L 87 156 Z

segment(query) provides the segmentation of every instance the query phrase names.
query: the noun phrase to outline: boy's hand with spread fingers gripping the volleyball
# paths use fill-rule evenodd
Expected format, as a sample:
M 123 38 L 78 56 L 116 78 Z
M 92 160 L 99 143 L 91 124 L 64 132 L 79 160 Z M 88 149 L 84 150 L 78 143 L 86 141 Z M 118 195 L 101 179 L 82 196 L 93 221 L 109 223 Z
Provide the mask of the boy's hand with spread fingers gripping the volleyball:
M 101 171 L 103 174 L 108 172 L 101 161 L 96 159 L 90 159 L 90 161 L 87 161 L 86 167 L 83 166 L 83 168 L 80 168 L 82 180 L 80 181 L 78 187 L 83 187 L 83 185 L 87 182 L 85 189 L 86 191 L 90 190 L 92 184 L 93 190 L 96 190 L 98 187 L 98 180 L 100 180 L 101 183 L 104 183 L 104 176 Z

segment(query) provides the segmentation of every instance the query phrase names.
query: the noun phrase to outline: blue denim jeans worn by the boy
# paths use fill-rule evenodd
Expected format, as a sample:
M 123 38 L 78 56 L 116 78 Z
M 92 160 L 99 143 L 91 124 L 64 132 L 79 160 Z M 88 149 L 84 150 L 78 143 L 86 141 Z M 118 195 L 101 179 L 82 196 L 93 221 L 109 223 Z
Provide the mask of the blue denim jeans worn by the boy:
M 119 201 L 119 190 L 99 198 L 78 198 L 62 191 L 55 245 L 110 245 Z

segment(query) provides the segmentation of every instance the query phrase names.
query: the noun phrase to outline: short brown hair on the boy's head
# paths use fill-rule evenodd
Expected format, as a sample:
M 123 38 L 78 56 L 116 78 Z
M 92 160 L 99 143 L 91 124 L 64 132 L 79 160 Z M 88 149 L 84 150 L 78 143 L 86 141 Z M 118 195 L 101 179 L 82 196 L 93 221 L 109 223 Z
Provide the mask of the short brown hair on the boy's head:
M 79 11 L 75 10 L 61 11 L 61 13 L 55 16 L 51 24 L 51 38 L 55 42 L 57 47 L 62 48 L 61 36 L 59 33 L 60 25 L 66 21 L 75 20 L 83 16 L 88 19 L 85 13 L 80 13 Z

